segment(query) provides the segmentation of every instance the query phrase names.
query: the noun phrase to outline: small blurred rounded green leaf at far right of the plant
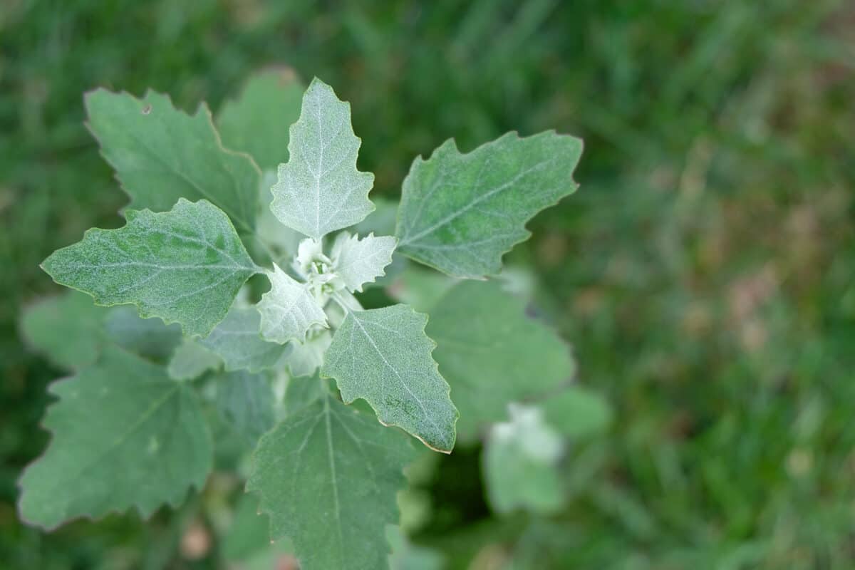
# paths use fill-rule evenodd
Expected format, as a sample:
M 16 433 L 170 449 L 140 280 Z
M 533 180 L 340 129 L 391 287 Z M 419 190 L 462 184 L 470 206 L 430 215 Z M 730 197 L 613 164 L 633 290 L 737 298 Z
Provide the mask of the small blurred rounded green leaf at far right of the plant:
M 608 429 L 609 403 L 583 386 L 569 386 L 540 403 L 549 425 L 568 438 L 589 438 Z

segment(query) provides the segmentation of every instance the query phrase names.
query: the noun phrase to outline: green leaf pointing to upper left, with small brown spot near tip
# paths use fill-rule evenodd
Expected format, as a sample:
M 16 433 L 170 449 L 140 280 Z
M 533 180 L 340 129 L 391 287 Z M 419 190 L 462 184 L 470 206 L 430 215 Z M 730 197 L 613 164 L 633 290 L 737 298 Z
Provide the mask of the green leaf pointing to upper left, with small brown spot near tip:
M 222 147 L 204 103 L 191 116 L 154 91 L 137 99 L 97 89 L 85 104 L 89 129 L 131 208 L 162 212 L 182 197 L 205 198 L 241 233 L 254 232 L 261 171 L 248 155 Z

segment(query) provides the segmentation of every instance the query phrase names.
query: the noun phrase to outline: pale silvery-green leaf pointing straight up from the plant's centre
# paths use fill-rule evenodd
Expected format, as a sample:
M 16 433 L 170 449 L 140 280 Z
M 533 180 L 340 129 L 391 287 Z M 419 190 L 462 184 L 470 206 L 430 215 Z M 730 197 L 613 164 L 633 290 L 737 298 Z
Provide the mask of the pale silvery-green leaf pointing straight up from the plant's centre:
M 357 170 L 361 140 L 351 127 L 351 106 L 315 78 L 291 126 L 290 158 L 280 164 L 270 208 L 288 227 L 320 239 L 352 226 L 373 209 L 374 174 Z

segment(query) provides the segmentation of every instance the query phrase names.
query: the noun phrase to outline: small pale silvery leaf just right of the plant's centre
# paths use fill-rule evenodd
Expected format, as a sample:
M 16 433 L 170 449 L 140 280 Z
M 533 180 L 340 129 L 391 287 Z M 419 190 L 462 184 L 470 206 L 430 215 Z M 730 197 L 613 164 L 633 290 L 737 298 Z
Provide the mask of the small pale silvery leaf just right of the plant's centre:
M 396 243 L 391 236 L 375 237 L 369 233 L 360 239 L 357 235 L 341 232 L 330 251 L 333 270 L 349 291 L 363 291 L 363 285 L 373 283 L 385 273 L 384 267 L 392 263 Z

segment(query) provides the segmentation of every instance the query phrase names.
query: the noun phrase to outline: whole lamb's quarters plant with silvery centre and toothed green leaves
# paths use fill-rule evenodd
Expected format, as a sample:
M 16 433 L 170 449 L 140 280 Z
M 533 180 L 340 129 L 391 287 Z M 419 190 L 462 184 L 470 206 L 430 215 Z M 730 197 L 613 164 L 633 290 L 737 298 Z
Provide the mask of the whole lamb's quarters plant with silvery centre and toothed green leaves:
M 387 532 L 404 548 L 390 528 L 413 438 L 443 453 L 458 430 L 459 444 L 486 438 L 500 512 L 559 501 L 554 482 L 523 479 L 552 481 L 566 438 L 608 410 L 568 387 L 569 347 L 525 300 L 479 279 L 575 191 L 580 140 L 509 133 L 467 154 L 449 140 L 413 162 L 396 215 L 375 210 L 350 106 L 319 79 L 262 73 L 216 126 L 206 106 L 186 115 L 152 91 L 85 104 L 132 200 L 125 226 L 42 266 L 95 304 L 69 292 L 25 314 L 32 346 L 74 375 L 50 388 L 24 520 L 178 504 L 212 469 L 211 421 L 254 450 L 246 489 L 308 570 L 385 567 Z M 363 308 L 379 287 L 387 302 Z M 499 423 L 515 402 L 528 407 Z M 565 417 L 589 408 L 587 428 Z

